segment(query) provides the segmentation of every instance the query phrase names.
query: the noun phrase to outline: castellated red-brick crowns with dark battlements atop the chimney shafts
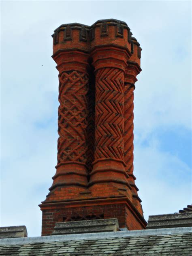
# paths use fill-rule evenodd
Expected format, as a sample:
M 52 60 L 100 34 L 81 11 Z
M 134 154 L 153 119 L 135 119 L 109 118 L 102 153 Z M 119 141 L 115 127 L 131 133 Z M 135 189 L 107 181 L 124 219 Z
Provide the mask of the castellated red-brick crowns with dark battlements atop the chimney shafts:
M 98 20 L 92 26 L 79 23 L 62 24 L 54 31 L 52 37 L 53 58 L 60 52 L 69 49 L 90 53 L 96 47 L 111 46 L 124 49 L 127 57 L 132 56 L 132 61 L 140 65 L 140 44 L 132 37 L 132 32 L 127 24 L 116 19 Z M 110 61 L 112 61 L 112 56 Z M 115 61 L 117 62 L 117 60 Z M 106 67 L 107 62 L 102 63 Z M 118 62 L 116 66 L 120 67 Z

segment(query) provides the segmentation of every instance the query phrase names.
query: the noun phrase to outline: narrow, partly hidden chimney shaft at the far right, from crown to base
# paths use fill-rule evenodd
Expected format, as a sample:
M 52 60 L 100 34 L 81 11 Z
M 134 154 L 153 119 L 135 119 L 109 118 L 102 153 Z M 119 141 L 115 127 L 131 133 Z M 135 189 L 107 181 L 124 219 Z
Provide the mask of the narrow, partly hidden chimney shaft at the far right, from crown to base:
M 125 72 L 125 135 L 124 135 L 124 146 L 125 146 L 125 162 L 126 172 L 129 175 L 128 183 L 132 187 L 132 203 L 137 210 L 142 214 L 143 210 L 141 207 L 141 199 L 139 198 L 137 191 L 139 190 L 135 185 L 135 176 L 133 174 L 133 109 L 134 109 L 134 84 L 137 82 L 136 76 L 141 72 L 140 58 L 141 58 L 141 47 L 137 40 L 132 37 L 131 53 L 126 67 Z

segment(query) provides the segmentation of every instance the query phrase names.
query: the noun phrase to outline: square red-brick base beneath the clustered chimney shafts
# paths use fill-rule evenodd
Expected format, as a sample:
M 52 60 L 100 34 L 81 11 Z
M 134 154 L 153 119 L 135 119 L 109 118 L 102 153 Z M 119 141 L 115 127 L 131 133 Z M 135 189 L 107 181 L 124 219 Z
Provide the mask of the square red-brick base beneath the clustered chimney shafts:
M 74 202 L 60 202 L 42 206 L 42 235 L 51 235 L 56 222 L 87 219 L 111 219 L 116 217 L 119 228 L 138 230 L 145 228 L 139 212 L 132 208 L 127 198 L 94 199 Z

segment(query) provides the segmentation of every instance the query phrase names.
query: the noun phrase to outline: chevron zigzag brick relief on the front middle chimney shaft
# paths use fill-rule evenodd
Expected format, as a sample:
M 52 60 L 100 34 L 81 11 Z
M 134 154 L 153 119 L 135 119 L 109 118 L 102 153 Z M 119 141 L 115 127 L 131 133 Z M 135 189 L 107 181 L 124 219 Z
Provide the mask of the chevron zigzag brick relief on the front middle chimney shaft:
M 104 68 L 96 73 L 95 159 L 124 159 L 124 73 Z

